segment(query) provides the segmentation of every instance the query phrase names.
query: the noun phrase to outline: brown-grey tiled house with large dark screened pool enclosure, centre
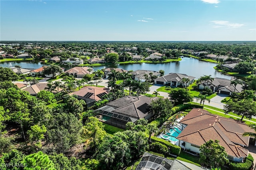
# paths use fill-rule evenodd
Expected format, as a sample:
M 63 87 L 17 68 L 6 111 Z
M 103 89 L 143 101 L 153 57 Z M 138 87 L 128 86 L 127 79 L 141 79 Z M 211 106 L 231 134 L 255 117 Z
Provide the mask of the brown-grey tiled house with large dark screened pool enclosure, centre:
M 110 125 L 126 128 L 126 123 L 135 123 L 138 119 L 149 119 L 154 111 L 149 110 L 149 105 L 157 97 L 146 96 L 124 96 L 103 107 L 94 110 L 99 120 Z

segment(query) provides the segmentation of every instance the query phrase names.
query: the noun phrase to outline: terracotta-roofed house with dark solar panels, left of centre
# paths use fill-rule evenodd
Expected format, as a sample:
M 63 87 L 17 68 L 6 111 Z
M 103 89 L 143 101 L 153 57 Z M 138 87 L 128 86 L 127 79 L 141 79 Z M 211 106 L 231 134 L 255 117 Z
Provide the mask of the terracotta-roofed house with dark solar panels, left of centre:
M 107 88 L 86 86 L 76 92 L 72 92 L 69 95 L 76 95 L 79 100 L 84 100 L 87 107 L 91 107 L 95 102 L 102 99 L 102 97 L 108 94 Z

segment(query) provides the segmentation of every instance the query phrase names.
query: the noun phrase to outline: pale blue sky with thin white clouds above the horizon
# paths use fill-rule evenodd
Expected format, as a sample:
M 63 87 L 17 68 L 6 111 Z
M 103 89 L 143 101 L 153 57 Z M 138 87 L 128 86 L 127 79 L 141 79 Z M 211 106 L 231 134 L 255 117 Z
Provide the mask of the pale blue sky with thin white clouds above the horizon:
M 256 41 L 256 1 L 0 0 L 0 40 Z

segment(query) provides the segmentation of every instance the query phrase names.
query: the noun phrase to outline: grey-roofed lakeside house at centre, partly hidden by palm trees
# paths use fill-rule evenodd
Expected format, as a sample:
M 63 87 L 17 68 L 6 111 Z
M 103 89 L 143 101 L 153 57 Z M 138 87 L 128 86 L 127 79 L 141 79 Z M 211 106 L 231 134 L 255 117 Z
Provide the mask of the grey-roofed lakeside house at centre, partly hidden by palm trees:
M 152 75 L 150 75 L 151 73 Z M 159 77 L 161 75 L 159 71 L 156 72 L 156 71 L 150 71 L 150 70 L 136 70 L 136 71 L 130 72 L 130 74 L 132 74 L 132 78 L 134 80 L 138 80 L 141 82 L 146 81 L 145 74 L 148 75 L 148 77 L 151 77 L 151 76 Z

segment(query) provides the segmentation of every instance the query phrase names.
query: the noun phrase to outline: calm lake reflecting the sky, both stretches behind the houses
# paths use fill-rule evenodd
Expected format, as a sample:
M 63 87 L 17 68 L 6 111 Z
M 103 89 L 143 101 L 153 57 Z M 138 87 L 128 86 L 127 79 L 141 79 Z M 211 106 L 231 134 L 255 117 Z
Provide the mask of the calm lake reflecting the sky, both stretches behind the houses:
M 6 61 L 0 62 L 2 67 L 14 67 L 15 65 L 20 65 L 22 68 L 40 68 L 45 64 L 41 64 L 40 61 Z M 214 70 L 215 63 L 199 61 L 198 59 L 183 57 L 182 61 L 173 63 L 135 63 L 135 64 L 110 64 L 104 66 L 94 66 L 93 69 L 102 68 L 122 68 L 124 70 L 164 70 L 164 74 L 168 73 L 181 73 L 187 74 L 189 76 L 194 76 L 198 79 L 203 75 L 212 75 L 212 77 L 228 78 L 230 76 L 222 74 Z

